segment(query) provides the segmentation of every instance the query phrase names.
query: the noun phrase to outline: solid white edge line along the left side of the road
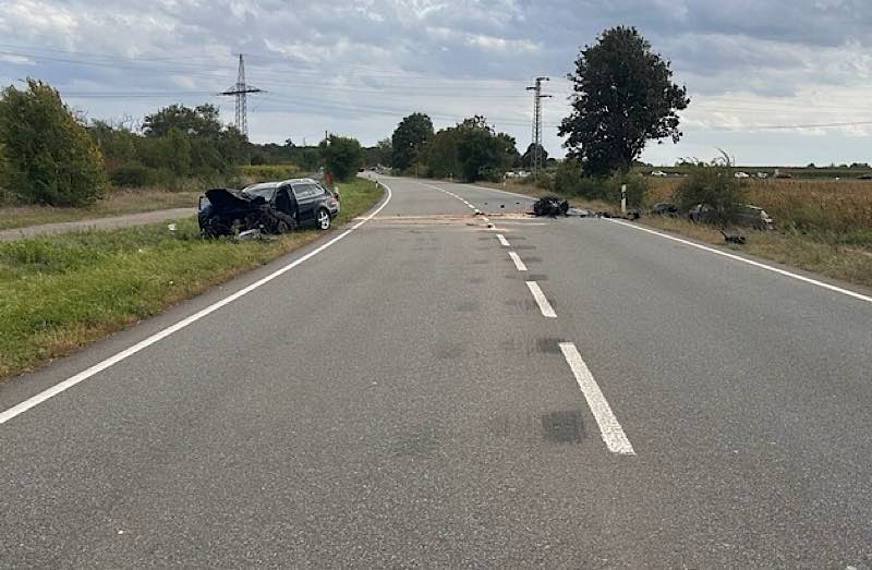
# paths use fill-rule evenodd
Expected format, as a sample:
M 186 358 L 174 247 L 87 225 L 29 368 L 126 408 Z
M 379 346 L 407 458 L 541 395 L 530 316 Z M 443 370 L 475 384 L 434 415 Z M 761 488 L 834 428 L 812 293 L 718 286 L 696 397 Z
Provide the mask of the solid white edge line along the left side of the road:
M 148 338 L 146 338 L 144 340 L 141 340 L 140 342 L 133 344 L 132 347 L 129 347 L 129 348 L 122 350 L 121 352 L 118 352 L 118 353 L 113 354 L 112 356 L 109 356 L 108 359 L 106 359 L 106 360 L 104 360 L 101 362 L 98 362 L 94 366 L 90 366 L 89 368 L 86 368 L 86 369 L 80 372 L 78 374 L 69 377 L 65 380 L 62 380 L 62 381 L 56 384 L 55 386 L 52 386 L 50 388 L 47 388 L 46 390 L 43 390 L 41 392 L 39 392 L 39 393 L 37 393 L 35 396 L 32 396 L 31 398 L 24 400 L 23 402 L 17 403 L 16 405 L 13 405 L 12 408 L 5 410 L 4 412 L 0 412 L 0 425 L 9 422 L 10 420 L 12 420 L 15 416 L 19 416 L 19 415 L 23 414 L 24 412 L 26 412 L 31 408 L 39 405 L 40 403 L 45 402 L 49 398 L 52 398 L 52 397 L 55 397 L 55 396 L 57 396 L 57 395 L 59 395 L 59 393 L 61 393 L 61 392 L 63 392 L 65 390 L 69 390 L 70 388 L 72 388 L 76 384 L 80 384 L 80 383 L 90 378 L 95 374 L 98 374 L 98 373 L 109 368 L 110 366 L 113 366 L 113 365 L 118 364 L 119 362 L 121 362 L 121 361 L 123 361 L 123 360 L 136 354 L 137 352 L 142 351 L 143 349 L 146 349 L 146 348 L 150 347 L 152 344 L 154 344 L 154 343 L 156 343 L 156 342 L 169 337 L 170 335 L 172 335 L 174 332 L 178 332 L 179 330 L 185 328 L 186 326 L 189 326 L 189 325 L 191 325 L 193 323 L 196 323 L 197 320 L 199 320 L 203 317 L 205 317 L 205 316 L 218 311 L 219 308 L 221 308 L 221 307 L 223 307 L 226 305 L 229 305 L 230 303 L 232 303 L 237 299 L 240 299 L 241 296 L 244 296 L 244 295 L 251 293 L 255 289 L 268 283 L 269 281 L 272 281 L 277 277 L 280 277 L 280 276 L 284 275 L 286 272 L 290 271 L 291 269 L 293 269 L 298 265 L 302 264 L 306 259 L 310 259 L 310 258 L 316 256 L 317 254 L 319 254 L 320 252 L 323 252 L 327 247 L 331 246 L 332 244 L 335 244 L 339 240 L 343 239 L 346 235 L 348 235 L 352 231 L 356 230 L 358 228 L 360 228 L 361 226 L 363 226 L 364 223 L 366 223 L 367 221 L 373 219 L 379 211 L 382 211 L 382 209 L 385 206 L 388 205 L 388 203 L 390 202 L 390 198 L 392 197 L 392 193 L 390 191 L 390 187 L 387 184 L 385 184 L 384 182 L 378 182 L 378 183 L 382 184 L 382 186 L 387 191 L 387 198 L 385 199 L 385 202 L 377 209 L 375 209 L 372 214 L 370 214 L 368 216 L 363 218 L 363 220 L 361 220 L 356 225 L 352 226 L 351 229 L 348 229 L 348 230 L 343 231 L 342 233 L 340 233 L 339 235 L 337 235 L 332 240 L 328 241 L 327 243 L 324 243 L 324 244 L 319 245 L 318 247 L 316 247 L 315 250 L 308 252 L 307 254 L 303 255 L 302 257 L 300 257 L 298 259 L 294 259 L 293 262 L 289 263 L 284 267 L 281 267 L 280 269 L 269 274 L 268 276 L 266 276 L 266 277 L 264 277 L 262 279 L 258 279 L 257 281 L 253 282 L 252 284 L 250 284 L 250 286 L 247 286 L 247 287 L 245 287 L 243 289 L 240 289 L 235 293 L 233 293 L 233 294 L 231 294 L 229 296 L 226 296 L 225 299 L 222 299 L 220 301 L 217 301 L 216 303 L 213 303 L 211 305 L 209 305 L 209 306 L 207 306 L 205 308 L 202 308 L 202 310 L 197 311 L 193 315 L 191 315 L 189 317 L 185 317 L 182 320 L 179 320 L 174 325 L 170 325 L 169 327 L 167 327 L 167 328 L 165 328 L 162 330 L 159 330 L 158 332 L 155 332 L 150 337 L 148 337 Z

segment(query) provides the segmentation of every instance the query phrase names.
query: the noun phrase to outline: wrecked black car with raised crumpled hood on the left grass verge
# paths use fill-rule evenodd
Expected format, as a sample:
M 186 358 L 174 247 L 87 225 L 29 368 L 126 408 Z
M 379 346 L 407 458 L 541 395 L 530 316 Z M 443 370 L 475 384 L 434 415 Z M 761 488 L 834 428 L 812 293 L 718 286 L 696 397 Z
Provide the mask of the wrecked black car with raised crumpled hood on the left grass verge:
M 247 230 L 279 234 L 300 227 L 330 228 L 339 195 L 312 179 L 264 182 L 244 190 L 211 189 L 199 198 L 197 220 L 206 238 Z

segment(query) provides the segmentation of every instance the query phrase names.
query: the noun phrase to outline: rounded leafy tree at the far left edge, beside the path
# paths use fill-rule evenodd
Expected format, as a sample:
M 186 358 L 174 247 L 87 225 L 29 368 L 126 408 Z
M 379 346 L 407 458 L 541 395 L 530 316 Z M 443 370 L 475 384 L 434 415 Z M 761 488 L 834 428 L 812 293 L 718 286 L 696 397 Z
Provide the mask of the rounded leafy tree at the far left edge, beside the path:
M 102 157 L 85 128 L 49 85 L 27 80 L 0 98 L 0 185 L 27 202 L 81 206 L 106 189 Z

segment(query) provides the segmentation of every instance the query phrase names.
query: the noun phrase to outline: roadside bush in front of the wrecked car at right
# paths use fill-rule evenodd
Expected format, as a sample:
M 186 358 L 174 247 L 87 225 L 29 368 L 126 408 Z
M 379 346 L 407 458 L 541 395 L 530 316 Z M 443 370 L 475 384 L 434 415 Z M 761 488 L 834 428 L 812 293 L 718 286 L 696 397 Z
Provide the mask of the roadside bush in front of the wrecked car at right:
M 736 218 L 740 206 L 748 203 L 748 183 L 734 177 L 732 162 L 724 154 L 711 162 L 697 161 L 676 187 L 673 199 L 683 211 L 706 204 L 712 208 L 713 222 L 728 223 Z

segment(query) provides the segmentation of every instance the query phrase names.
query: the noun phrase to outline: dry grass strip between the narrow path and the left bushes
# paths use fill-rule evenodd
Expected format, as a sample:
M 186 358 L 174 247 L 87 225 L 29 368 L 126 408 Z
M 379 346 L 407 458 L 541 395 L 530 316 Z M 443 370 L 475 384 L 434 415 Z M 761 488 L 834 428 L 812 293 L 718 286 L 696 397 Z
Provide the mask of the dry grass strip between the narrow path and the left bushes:
M 84 208 L 52 208 L 50 206 L 0 207 L 0 230 L 38 226 L 40 223 L 107 218 L 141 211 L 194 208 L 199 194 L 199 192 L 167 192 L 155 189 L 116 190 L 96 204 Z

